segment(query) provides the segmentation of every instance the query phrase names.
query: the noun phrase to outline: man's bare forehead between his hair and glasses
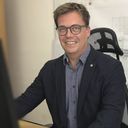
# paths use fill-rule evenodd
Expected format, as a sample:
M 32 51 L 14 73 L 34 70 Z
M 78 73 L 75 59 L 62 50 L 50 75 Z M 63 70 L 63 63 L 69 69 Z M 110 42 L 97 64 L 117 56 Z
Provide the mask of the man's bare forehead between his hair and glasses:
M 58 17 L 58 26 L 65 25 L 71 26 L 73 24 L 85 24 L 82 16 L 76 12 L 68 12 Z

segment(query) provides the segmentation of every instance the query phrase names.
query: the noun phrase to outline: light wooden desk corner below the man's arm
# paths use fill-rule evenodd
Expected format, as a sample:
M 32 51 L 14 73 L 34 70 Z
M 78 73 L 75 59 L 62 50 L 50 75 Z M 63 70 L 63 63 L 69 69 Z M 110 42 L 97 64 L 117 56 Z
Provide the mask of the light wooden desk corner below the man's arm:
M 34 123 L 31 123 L 28 121 L 23 121 L 23 120 L 19 121 L 19 126 L 20 126 L 20 128 L 48 128 L 46 126 L 34 124 Z

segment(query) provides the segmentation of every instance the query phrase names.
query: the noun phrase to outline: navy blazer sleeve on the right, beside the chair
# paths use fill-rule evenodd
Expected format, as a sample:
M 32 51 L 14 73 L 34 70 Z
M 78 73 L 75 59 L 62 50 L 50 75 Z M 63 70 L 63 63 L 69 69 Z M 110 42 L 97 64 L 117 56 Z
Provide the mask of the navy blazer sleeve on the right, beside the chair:
M 105 68 L 105 67 L 104 67 Z M 105 71 L 106 70 L 106 71 Z M 115 63 L 111 71 L 106 72 L 103 85 L 101 109 L 88 128 L 120 128 L 125 106 L 124 86 L 126 84 L 122 64 Z

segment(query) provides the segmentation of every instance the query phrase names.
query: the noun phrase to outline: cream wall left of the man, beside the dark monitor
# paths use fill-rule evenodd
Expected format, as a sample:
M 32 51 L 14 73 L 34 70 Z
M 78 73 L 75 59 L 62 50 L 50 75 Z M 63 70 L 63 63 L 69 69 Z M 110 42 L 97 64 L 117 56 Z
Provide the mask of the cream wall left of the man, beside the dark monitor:
M 52 57 L 54 37 L 52 0 L 6 0 L 9 71 L 14 97 L 31 84 L 44 63 Z M 25 119 L 51 122 L 46 104 Z

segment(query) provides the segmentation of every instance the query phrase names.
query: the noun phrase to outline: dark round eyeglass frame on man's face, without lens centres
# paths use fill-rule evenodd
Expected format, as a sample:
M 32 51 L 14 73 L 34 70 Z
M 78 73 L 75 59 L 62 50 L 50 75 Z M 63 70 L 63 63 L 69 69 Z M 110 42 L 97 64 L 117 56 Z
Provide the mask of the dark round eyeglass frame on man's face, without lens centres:
M 77 32 L 77 33 L 74 33 L 73 32 L 73 27 L 79 27 L 79 32 Z M 81 29 L 83 28 L 83 27 L 87 27 L 87 25 L 79 25 L 79 24 L 73 24 L 73 25 L 71 25 L 70 27 L 66 27 L 66 26 L 58 26 L 57 28 L 56 28 L 56 30 L 58 31 L 58 34 L 60 35 L 60 36 L 65 36 L 66 34 L 67 34 L 67 32 L 68 32 L 68 29 L 70 30 L 70 32 L 73 34 L 73 35 L 78 35 L 78 34 L 80 34 L 80 32 L 81 32 Z M 59 28 L 64 28 L 65 30 L 64 30 L 64 34 L 60 34 L 60 31 L 59 31 Z

